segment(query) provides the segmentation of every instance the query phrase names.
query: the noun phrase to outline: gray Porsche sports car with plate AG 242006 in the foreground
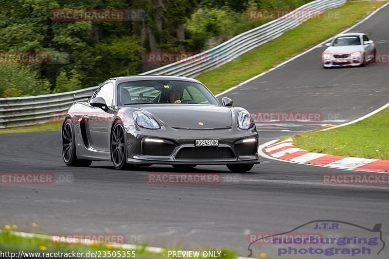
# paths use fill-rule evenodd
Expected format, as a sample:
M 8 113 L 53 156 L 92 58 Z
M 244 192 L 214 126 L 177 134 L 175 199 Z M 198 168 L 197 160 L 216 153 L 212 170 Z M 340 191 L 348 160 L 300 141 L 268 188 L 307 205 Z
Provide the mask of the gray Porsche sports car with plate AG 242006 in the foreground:
M 195 79 L 116 77 L 87 102 L 72 104 L 62 125 L 62 156 L 68 166 L 226 164 L 247 172 L 259 163 L 258 133 L 247 110 L 232 107 L 229 98 L 220 103 Z

